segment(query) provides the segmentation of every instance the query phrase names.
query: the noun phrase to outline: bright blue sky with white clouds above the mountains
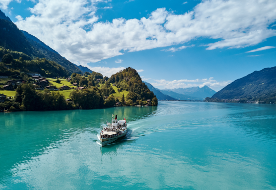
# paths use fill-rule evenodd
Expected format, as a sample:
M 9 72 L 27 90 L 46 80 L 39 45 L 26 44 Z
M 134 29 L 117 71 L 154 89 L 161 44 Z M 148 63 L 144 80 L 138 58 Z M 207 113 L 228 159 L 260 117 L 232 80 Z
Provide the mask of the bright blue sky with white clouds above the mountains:
M 19 29 L 110 77 L 215 91 L 276 66 L 276 0 L 0 0 Z

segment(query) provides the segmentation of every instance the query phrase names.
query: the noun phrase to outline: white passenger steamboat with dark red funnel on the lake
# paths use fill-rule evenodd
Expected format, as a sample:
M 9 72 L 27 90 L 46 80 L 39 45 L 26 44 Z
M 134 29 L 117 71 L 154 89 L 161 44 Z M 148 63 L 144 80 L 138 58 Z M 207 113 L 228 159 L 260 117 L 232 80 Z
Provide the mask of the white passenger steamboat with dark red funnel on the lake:
M 115 119 L 113 119 L 111 123 L 106 122 L 106 126 L 102 127 L 100 133 L 100 140 L 102 146 L 108 145 L 119 138 L 126 136 L 127 134 L 127 122 L 126 119 L 118 120 L 117 115 L 115 115 Z

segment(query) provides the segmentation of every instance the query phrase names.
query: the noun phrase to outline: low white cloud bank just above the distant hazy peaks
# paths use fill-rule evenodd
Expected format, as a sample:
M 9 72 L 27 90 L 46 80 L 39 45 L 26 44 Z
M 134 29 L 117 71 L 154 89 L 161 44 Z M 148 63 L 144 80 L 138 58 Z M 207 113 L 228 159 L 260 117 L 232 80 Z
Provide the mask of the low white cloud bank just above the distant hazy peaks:
M 217 82 L 210 77 L 209 79 L 195 79 L 195 80 L 174 80 L 174 81 L 167 81 L 167 80 L 154 80 L 155 82 L 150 83 L 152 86 L 156 88 L 162 89 L 176 89 L 176 88 L 191 88 L 191 87 L 210 87 L 215 91 L 221 90 L 223 87 L 229 85 L 232 81 L 223 81 Z

